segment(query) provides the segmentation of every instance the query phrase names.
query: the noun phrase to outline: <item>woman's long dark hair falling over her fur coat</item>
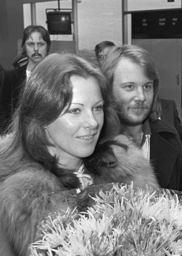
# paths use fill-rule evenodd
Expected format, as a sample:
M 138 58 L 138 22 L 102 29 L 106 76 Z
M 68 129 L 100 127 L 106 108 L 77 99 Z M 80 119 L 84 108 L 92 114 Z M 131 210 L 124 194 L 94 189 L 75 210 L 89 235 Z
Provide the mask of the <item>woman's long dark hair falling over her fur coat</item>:
M 56 157 L 49 153 L 48 147 L 51 144 L 44 129 L 46 125 L 56 120 L 63 110 L 70 107 L 72 100 L 70 78 L 73 75 L 85 79 L 94 77 L 100 86 L 104 99 L 104 123 L 96 148 L 100 147 L 101 141 L 118 134 L 119 120 L 112 107 L 110 85 L 103 72 L 75 54 L 49 54 L 32 70 L 21 91 L 19 106 L 11 125 L 12 143 L 7 145 L 5 151 L 0 151 L 0 162 L 5 161 L 6 166 L 11 165 L 4 176 L 18 171 L 13 167 L 13 161 L 19 161 L 21 164 L 22 159 L 30 159 L 34 163 L 41 164 L 57 177 L 64 176 L 62 180 L 65 181 L 65 187 L 73 185 L 68 170 L 60 171 Z M 98 161 L 98 157 L 94 154 L 93 158 L 97 158 Z M 94 163 L 92 158 L 87 159 L 86 162 Z

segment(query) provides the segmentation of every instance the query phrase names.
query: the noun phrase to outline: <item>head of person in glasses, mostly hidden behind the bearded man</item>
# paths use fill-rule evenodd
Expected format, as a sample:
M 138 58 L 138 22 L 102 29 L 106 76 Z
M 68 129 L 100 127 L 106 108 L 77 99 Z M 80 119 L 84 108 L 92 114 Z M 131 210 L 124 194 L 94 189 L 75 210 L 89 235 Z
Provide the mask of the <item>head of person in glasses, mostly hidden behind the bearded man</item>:
M 95 54 L 99 66 L 102 65 L 105 56 L 108 54 L 112 46 L 115 46 L 115 44 L 111 41 L 102 41 L 95 46 Z

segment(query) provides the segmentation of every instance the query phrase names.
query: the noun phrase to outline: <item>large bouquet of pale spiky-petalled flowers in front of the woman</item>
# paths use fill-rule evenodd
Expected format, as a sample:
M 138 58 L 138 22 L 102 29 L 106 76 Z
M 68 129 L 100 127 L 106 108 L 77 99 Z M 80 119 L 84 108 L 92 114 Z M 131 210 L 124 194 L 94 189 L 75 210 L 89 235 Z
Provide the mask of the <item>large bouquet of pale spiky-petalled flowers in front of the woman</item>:
M 175 192 L 105 184 L 90 196 L 94 187 L 78 199 L 84 211 L 68 207 L 40 223 L 31 256 L 182 255 L 182 203 Z

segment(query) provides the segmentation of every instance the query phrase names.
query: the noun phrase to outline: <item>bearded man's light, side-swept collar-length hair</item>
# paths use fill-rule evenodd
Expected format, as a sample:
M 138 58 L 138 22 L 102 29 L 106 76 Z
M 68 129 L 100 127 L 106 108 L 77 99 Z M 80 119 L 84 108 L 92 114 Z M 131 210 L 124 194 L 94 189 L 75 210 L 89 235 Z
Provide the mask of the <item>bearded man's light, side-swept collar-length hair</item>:
M 102 64 L 102 70 L 111 85 L 114 80 L 114 72 L 122 58 L 130 59 L 141 66 L 145 76 L 150 80 L 154 80 L 154 98 L 149 120 L 157 120 L 161 115 L 162 109 L 159 99 L 159 75 L 152 57 L 145 49 L 136 45 L 113 46 Z

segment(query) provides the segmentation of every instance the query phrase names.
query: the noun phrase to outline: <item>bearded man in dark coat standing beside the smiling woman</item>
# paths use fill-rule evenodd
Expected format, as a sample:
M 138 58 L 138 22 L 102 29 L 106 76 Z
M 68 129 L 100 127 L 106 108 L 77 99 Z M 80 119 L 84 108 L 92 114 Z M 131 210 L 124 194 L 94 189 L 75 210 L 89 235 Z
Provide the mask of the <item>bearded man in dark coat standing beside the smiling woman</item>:
M 162 188 L 182 191 L 181 142 L 175 127 L 159 119 L 159 78 L 151 56 L 138 46 L 114 46 L 102 69 L 112 86 L 121 132 L 141 148 Z

